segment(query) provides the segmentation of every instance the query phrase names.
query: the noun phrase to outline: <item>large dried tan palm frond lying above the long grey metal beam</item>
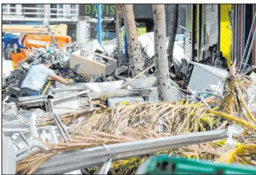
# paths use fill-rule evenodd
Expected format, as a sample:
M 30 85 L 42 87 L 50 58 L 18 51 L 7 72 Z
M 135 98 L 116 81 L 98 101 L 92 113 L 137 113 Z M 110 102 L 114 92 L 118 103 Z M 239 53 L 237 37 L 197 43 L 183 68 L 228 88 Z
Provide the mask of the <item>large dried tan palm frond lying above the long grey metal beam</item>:
M 202 103 L 136 103 L 131 106 L 117 106 L 111 111 L 95 113 L 83 118 L 72 130 L 86 132 L 90 129 L 104 131 L 113 135 L 123 135 L 135 128 L 158 131 L 163 127 L 168 135 L 199 132 L 216 129 L 220 119 L 235 121 L 244 127 L 256 129 L 244 119 L 239 119 L 220 111 L 207 110 Z M 135 133 L 136 135 L 136 133 Z M 129 137 L 133 137 L 129 135 Z

